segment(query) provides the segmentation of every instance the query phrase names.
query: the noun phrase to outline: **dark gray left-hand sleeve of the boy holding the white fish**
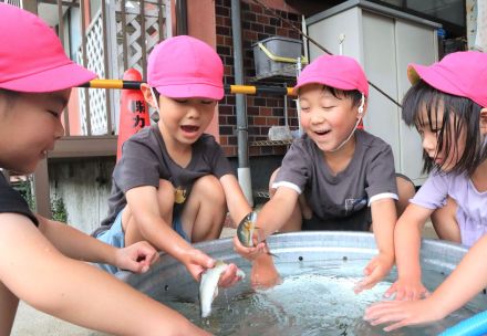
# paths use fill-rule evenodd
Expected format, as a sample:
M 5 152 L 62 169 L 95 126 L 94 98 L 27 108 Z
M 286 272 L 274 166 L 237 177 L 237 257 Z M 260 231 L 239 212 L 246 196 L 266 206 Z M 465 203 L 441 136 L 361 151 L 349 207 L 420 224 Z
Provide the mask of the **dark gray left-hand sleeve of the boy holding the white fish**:
M 122 147 L 122 158 L 116 164 L 113 179 L 123 192 L 142 187 L 159 187 L 158 159 L 155 153 L 141 141 L 128 139 Z

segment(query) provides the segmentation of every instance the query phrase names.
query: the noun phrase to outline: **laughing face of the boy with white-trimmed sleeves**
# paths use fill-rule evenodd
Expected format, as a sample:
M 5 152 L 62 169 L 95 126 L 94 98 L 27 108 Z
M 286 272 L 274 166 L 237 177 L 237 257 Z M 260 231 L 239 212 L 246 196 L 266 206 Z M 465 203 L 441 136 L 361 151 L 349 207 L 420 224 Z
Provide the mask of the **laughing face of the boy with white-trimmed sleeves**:
M 301 125 L 307 135 L 323 151 L 339 148 L 354 130 L 359 108 L 351 96 L 333 94 L 321 84 L 310 84 L 300 88 Z M 349 141 L 343 146 L 353 146 Z

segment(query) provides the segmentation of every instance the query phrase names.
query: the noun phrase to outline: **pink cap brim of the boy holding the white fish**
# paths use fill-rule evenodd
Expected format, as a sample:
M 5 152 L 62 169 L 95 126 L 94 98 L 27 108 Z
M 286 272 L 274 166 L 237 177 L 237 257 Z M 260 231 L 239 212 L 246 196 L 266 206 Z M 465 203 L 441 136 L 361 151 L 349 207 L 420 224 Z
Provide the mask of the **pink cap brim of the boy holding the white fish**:
M 220 101 L 224 95 L 224 87 L 210 84 L 170 84 L 156 86 L 159 94 L 169 98 L 210 98 Z

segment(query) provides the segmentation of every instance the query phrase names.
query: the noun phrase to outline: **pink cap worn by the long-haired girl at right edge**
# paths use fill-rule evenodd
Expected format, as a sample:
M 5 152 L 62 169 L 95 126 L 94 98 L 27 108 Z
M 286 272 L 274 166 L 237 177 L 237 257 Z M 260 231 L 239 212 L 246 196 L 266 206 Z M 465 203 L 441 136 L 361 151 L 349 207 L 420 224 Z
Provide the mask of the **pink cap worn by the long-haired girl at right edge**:
M 410 64 L 412 84 L 425 81 L 434 88 L 469 98 L 487 107 L 487 54 L 477 51 L 456 52 L 429 66 Z

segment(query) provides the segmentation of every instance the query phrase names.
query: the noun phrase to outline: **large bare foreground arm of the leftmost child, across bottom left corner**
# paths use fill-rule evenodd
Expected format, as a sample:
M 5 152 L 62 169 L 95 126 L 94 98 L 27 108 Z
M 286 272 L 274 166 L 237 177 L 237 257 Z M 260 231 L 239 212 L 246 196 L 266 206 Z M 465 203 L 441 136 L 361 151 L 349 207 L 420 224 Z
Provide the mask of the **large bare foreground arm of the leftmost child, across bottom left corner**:
M 25 217 L 2 213 L 0 222 L 0 282 L 4 285 L 0 290 L 8 288 L 48 314 L 104 333 L 207 335 L 114 276 L 64 256 Z M 0 325 L 0 334 L 8 335 L 6 328 Z

